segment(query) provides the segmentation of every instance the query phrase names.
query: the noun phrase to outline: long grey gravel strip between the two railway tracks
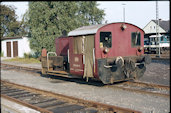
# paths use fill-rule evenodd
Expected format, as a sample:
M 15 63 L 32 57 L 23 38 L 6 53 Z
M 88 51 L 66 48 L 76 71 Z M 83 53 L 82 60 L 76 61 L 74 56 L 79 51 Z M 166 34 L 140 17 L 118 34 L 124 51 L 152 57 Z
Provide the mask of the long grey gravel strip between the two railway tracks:
M 143 113 L 168 113 L 170 110 L 169 98 L 117 88 L 60 81 L 9 70 L 1 70 L 1 79 L 59 94 L 135 109 Z

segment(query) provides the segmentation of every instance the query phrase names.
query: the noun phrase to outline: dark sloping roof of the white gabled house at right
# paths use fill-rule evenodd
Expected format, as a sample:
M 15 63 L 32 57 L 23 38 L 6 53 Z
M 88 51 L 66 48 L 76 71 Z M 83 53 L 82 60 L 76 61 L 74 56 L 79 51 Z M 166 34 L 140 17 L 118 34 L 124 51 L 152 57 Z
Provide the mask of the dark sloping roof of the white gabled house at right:
M 156 20 L 152 20 L 157 24 Z M 166 32 L 170 32 L 170 20 L 161 20 L 159 19 L 159 26 L 163 28 Z

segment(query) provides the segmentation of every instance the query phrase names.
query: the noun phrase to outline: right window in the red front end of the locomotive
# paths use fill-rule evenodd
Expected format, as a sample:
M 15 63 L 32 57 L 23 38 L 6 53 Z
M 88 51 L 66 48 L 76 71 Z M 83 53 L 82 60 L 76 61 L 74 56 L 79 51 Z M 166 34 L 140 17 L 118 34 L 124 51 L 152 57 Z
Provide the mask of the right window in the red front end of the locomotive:
M 132 47 L 141 45 L 141 34 L 140 32 L 131 33 L 131 45 Z

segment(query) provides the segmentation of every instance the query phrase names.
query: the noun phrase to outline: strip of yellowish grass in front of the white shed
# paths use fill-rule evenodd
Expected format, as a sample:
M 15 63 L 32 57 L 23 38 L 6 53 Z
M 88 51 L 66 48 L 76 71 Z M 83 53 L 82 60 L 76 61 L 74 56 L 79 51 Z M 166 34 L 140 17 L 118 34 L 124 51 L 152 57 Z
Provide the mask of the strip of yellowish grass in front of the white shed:
M 12 58 L 12 59 L 6 59 L 4 61 L 9 61 L 9 62 L 21 62 L 21 63 L 40 63 L 38 59 L 35 58 Z

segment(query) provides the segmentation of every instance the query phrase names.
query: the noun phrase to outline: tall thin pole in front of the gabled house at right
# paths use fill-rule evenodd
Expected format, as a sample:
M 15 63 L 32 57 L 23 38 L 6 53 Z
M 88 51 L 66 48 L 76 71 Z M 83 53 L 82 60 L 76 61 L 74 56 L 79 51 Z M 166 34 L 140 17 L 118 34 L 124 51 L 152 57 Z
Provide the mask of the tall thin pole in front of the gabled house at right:
M 159 57 L 160 57 L 160 36 L 159 36 L 159 8 L 158 8 L 158 0 L 156 0 L 156 38 L 158 38 L 159 44 Z

